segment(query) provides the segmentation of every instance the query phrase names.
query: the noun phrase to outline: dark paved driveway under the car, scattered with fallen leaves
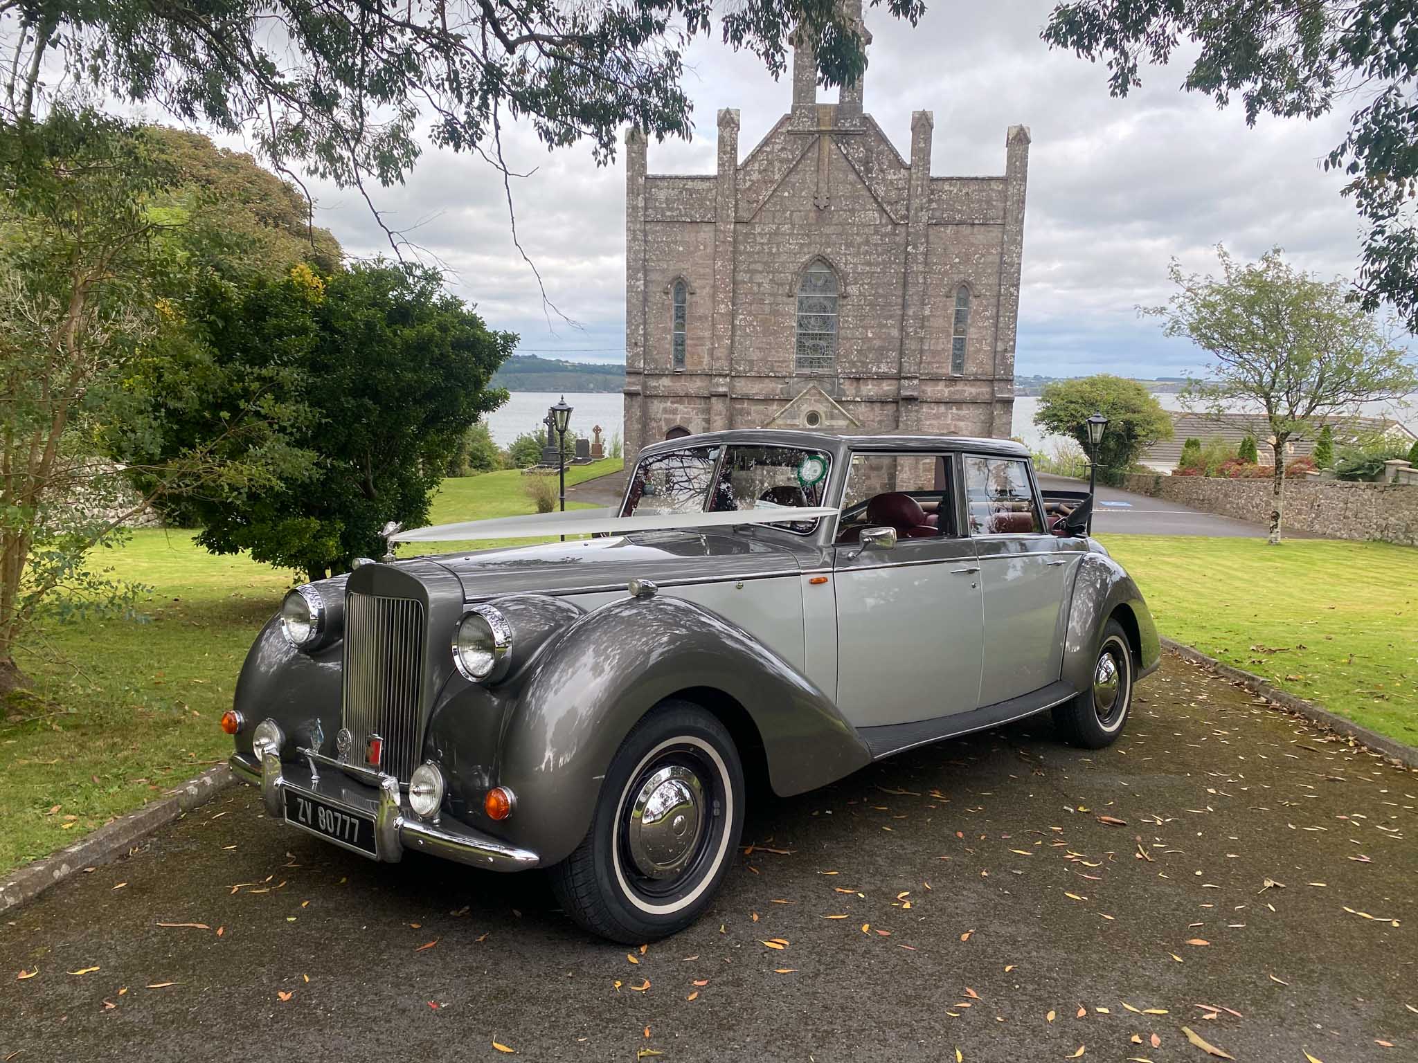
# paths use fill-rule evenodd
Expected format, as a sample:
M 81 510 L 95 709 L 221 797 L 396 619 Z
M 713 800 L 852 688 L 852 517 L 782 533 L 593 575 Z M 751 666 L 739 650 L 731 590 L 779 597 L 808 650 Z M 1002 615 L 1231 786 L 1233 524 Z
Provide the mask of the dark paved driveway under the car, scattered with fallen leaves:
M 1037 719 L 752 806 L 644 954 L 240 788 L 0 924 L 0 1059 L 1418 1059 L 1418 777 L 1171 658 L 1139 697 L 1110 750 Z

